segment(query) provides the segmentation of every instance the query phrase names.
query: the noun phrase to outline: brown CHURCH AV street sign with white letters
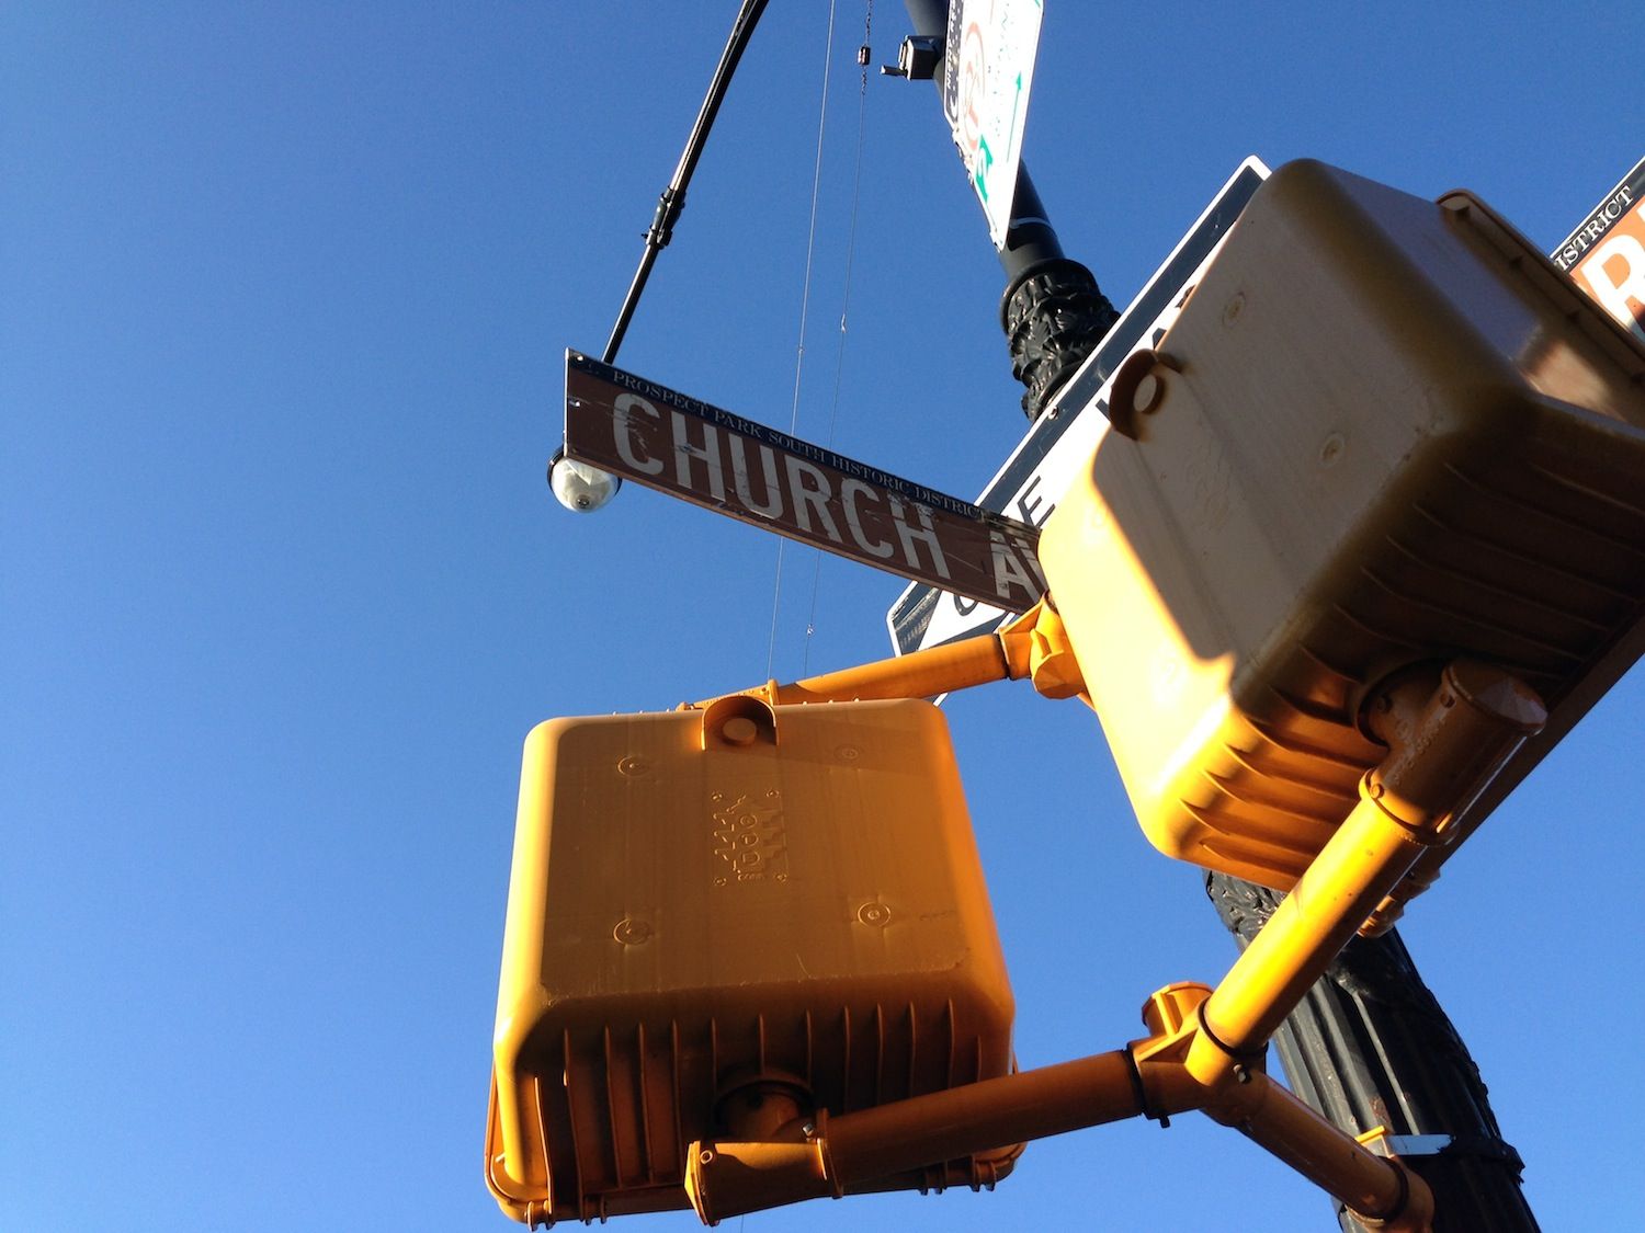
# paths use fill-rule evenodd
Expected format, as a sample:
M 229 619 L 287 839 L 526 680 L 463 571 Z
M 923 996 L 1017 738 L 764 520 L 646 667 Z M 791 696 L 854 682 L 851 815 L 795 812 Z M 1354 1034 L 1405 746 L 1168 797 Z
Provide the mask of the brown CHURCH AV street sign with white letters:
M 566 455 L 995 608 L 1045 593 L 1035 528 L 569 350 Z

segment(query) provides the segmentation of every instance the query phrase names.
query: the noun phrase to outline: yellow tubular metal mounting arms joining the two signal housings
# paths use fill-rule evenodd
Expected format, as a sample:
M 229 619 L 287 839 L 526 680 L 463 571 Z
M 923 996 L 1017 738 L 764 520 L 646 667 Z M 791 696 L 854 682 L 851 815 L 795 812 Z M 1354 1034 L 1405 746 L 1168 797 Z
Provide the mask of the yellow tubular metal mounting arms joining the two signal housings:
M 1031 676 L 1053 663 L 1051 610 L 926 654 L 913 671 L 870 664 L 796 686 L 773 702 L 862 697 L 857 689 L 941 692 Z M 915 656 L 908 656 L 915 659 Z M 1038 684 L 1038 682 L 1036 682 Z M 786 690 L 786 692 L 785 692 Z M 883 697 L 882 694 L 873 694 Z M 1268 1037 L 1349 937 L 1453 820 L 1535 733 L 1546 712 L 1525 686 L 1484 664 L 1397 679 L 1367 707 L 1388 753 L 1362 784 L 1359 807 L 1296 883 L 1216 990 L 1173 985 L 1143 1011 L 1152 1032 L 1125 1049 L 989 1078 L 933 1095 L 827 1116 L 795 1116 L 753 1141 L 696 1143 L 686 1189 L 706 1221 L 798 1198 L 844 1194 L 933 1161 L 1137 1115 L 1202 1110 L 1235 1126 L 1383 1230 L 1423 1233 L 1433 1195 L 1395 1159 L 1369 1151 L 1263 1074 Z

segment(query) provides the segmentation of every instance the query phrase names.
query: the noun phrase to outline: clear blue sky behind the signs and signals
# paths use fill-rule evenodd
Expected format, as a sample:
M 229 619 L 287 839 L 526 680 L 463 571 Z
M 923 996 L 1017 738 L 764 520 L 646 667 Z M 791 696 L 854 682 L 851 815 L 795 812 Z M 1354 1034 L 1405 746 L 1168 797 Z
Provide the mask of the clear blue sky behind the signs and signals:
M 1645 153 L 1638 5 L 1046 8 L 1028 161 L 1117 304 L 1247 155 L 1466 186 L 1551 248 Z M 767 533 L 543 482 L 563 350 L 602 347 L 734 12 L 0 10 L 0 1226 L 508 1228 L 480 1164 L 526 730 L 888 653 L 893 577 L 790 549 L 773 633 Z M 933 89 L 860 95 L 860 3 L 818 159 L 829 20 L 772 5 L 620 362 L 972 496 L 1023 429 L 999 265 Z M 875 64 L 906 30 L 875 7 Z M 1635 672 L 1403 927 L 1550 1230 L 1638 1210 L 1642 707 Z M 948 712 L 1025 1065 L 1221 977 L 1079 704 Z M 742 1226 L 860 1221 L 1334 1228 L 1202 1118 Z

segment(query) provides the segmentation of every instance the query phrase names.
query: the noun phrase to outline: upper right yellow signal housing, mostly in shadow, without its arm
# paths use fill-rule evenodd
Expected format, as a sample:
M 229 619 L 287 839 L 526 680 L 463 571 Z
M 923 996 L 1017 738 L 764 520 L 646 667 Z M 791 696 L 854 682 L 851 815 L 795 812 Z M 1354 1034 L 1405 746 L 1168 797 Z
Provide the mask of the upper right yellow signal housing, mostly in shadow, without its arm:
M 1645 347 L 1477 201 L 1281 168 L 1135 368 L 1040 557 L 1168 855 L 1288 889 L 1457 656 L 1550 710 L 1467 830 L 1645 649 Z

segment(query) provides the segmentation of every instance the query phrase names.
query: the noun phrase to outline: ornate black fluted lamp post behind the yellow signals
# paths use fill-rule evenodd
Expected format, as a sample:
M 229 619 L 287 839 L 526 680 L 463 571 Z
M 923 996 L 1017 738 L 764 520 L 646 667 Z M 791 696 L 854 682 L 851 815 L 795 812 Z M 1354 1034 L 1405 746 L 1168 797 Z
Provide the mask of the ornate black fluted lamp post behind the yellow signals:
M 957 3 L 959 0 L 956 0 Z M 936 81 L 949 31 L 944 0 L 905 0 L 915 35 L 900 76 Z M 1005 247 L 1000 304 L 1012 372 L 1030 419 L 1097 347 L 1114 306 L 1092 273 L 1063 253 L 1050 214 L 1022 166 Z M 1240 949 L 1285 896 L 1222 873 L 1207 893 Z M 1349 1134 L 1382 1128 L 1392 1149 L 1434 1194 L 1436 1233 L 1538 1233 L 1520 1190 L 1522 1161 L 1490 1111 L 1479 1067 L 1390 931 L 1354 939 L 1275 1036 L 1293 1092 Z M 1347 1233 L 1362 1226 L 1341 1207 Z

